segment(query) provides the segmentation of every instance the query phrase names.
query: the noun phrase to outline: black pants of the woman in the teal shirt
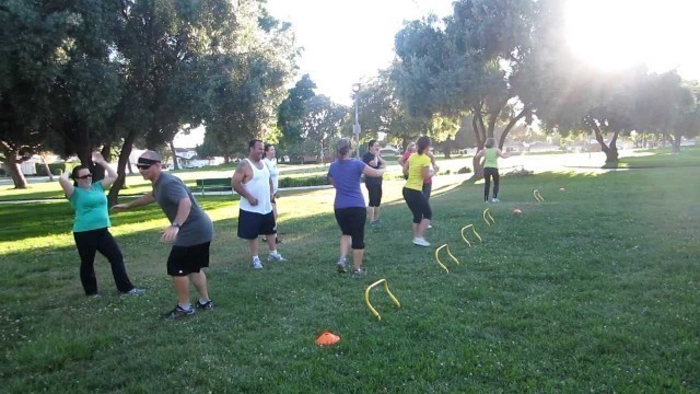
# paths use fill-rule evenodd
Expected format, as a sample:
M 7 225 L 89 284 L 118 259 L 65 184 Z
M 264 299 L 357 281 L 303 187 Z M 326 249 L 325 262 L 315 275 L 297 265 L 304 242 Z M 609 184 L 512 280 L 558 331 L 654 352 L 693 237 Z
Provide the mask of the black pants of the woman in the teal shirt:
M 115 242 L 107 228 L 74 232 L 75 246 L 80 255 L 80 281 L 86 296 L 97 293 L 97 278 L 95 278 L 95 253 L 107 257 L 112 265 L 112 276 L 117 289 L 121 292 L 133 289 L 124 267 L 124 256 L 119 245 Z

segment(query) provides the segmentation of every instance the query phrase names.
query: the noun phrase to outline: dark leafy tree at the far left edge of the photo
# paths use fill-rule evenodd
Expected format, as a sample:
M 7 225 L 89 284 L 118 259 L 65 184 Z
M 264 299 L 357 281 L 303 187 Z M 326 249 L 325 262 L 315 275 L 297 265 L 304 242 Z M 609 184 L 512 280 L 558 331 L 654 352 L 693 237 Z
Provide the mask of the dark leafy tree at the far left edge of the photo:
M 70 32 L 79 23 L 78 14 L 36 2 L 0 7 L 0 160 L 15 188 L 27 187 L 20 164 L 42 148 L 51 88 L 67 69 Z

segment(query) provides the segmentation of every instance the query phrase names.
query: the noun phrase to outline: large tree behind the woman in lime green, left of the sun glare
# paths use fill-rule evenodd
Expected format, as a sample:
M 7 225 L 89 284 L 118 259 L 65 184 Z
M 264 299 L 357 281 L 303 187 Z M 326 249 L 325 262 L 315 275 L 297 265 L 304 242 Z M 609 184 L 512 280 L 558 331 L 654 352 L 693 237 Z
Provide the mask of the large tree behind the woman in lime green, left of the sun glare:
M 399 95 L 411 114 L 457 119 L 470 113 L 479 148 L 494 137 L 497 124 L 504 123 L 502 147 L 518 121 L 532 119 L 533 104 L 521 92 L 529 86 L 529 76 L 521 70 L 532 50 L 536 2 L 453 4 L 443 24 L 434 18 L 413 21 L 396 35 Z M 480 176 L 476 160 L 474 166 Z

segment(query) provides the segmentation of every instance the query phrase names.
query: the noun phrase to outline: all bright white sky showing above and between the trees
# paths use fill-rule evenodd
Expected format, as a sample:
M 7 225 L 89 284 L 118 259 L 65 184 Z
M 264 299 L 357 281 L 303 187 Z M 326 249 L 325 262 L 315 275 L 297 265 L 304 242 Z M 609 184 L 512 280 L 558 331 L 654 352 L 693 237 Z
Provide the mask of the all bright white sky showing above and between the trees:
M 453 0 L 268 0 L 277 19 L 289 21 L 303 47 L 300 73 L 317 94 L 350 105 L 352 84 L 376 76 L 394 59 L 394 36 L 404 21 L 452 13 Z M 604 70 L 646 63 L 652 71 L 677 69 L 700 80 L 695 19 L 700 0 L 570 0 L 567 35 L 582 61 Z M 201 131 L 176 139 L 201 143 Z

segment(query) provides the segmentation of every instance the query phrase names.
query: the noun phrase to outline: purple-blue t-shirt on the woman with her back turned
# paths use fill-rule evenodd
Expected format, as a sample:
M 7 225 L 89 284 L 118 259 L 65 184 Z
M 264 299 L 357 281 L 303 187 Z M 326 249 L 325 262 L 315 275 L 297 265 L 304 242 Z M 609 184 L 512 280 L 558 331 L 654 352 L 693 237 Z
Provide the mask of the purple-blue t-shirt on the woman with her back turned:
M 328 177 L 336 188 L 336 200 L 332 207 L 364 208 L 364 196 L 360 189 L 360 177 L 366 164 L 357 159 L 341 159 L 332 162 L 328 169 Z

